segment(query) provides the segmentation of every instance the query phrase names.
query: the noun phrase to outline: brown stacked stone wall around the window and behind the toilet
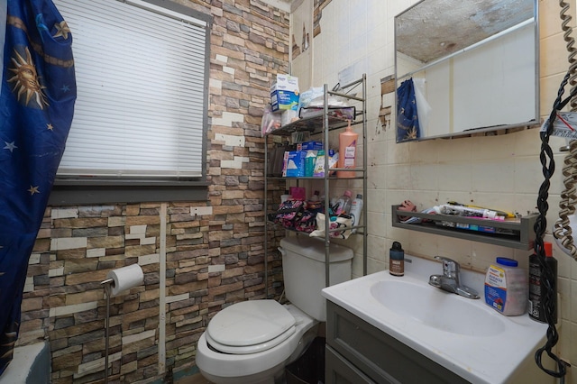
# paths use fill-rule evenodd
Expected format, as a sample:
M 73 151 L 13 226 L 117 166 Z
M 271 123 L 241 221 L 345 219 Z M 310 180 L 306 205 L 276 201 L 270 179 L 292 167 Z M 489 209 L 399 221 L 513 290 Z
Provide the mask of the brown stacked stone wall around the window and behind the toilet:
M 258 0 L 179 3 L 214 17 L 207 201 L 48 207 L 30 260 L 18 344 L 50 341 L 55 384 L 104 377 L 100 282 L 109 270 L 138 263 L 144 272 L 142 286 L 111 300 L 116 382 L 169 378 L 194 364 L 212 315 L 264 297 L 261 114 L 271 79 L 289 70 L 289 14 Z M 269 294 L 279 297 L 278 255 L 269 268 Z

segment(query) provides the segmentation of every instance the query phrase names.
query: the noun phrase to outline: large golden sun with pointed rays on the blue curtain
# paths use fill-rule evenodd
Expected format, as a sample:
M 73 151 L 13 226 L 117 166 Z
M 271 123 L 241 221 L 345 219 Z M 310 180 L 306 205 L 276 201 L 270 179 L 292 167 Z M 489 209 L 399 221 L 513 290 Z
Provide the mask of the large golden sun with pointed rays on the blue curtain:
M 46 96 L 42 92 L 42 88 L 45 87 L 40 84 L 30 50 L 24 47 L 24 51 L 26 59 L 14 49 L 12 57 L 14 67 L 8 69 L 14 73 L 14 77 L 9 78 L 8 83 L 14 83 L 14 92 L 18 92 L 18 100 L 25 96 L 24 105 L 30 106 L 30 101 L 33 100 L 40 109 L 43 109 L 44 105 L 48 105 Z

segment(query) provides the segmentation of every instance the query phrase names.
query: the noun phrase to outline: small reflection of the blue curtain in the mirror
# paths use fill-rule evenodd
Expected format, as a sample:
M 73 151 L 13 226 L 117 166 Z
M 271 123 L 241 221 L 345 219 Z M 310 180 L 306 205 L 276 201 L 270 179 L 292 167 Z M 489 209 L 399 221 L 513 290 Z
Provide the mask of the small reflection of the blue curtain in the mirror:
M 397 88 L 397 142 L 408 142 L 419 137 L 415 85 L 409 78 Z

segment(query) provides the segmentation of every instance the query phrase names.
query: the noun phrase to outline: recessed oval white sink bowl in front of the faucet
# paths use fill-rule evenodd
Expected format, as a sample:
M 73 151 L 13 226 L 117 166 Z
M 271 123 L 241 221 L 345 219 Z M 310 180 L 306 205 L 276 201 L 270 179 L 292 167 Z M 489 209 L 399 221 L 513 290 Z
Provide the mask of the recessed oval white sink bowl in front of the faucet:
M 371 296 L 399 315 L 452 334 L 489 336 L 505 330 L 502 316 L 492 309 L 429 285 L 402 279 L 377 281 L 371 286 Z

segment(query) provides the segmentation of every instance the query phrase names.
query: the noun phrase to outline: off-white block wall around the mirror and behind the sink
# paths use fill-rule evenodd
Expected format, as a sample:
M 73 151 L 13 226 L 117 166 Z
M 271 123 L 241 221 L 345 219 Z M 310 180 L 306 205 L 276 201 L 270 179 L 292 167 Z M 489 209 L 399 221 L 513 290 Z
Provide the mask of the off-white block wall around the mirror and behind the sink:
M 477 205 L 503 207 L 519 213 L 536 211 L 536 196 L 543 181 L 537 130 L 493 137 L 397 144 L 394 129 L 379 131 L 375 128 L 381 105 L 380 78 L 394 73 L 393 18 L 416 2 L 332 0 L 322 11 L 321 33 L 313 41 L 313 68 L 298 67 L 296 72 L 293 71 L 295 76 L 312 78 L 315 87 L 324 83 L 334 85 L 343 69 L 353 68 L 367 73 L 370 170 L 369 194 L 365 203 L 369 212 L 369 272 L 385 269 L 388 265 L 385 250 L 393 241 L 402 242 L 408 253 L 425 257 L 442 254 L 460 261 L 465 268 L 475 270 L 485 270 L 496 256 L 515 258 L 527 266 L 530 251 L 391 226 L 390 206 L 407 198 L 423 208 L 451 199 L 474 201 Z M 568 63 L 558 3 L 539 1 L 538 5 L 540 103 L 541 115 L 545 116 L 550 113 Z M 574 1 L 571 7 L 574 27 L 577 8 Z M 311 70 L 312 75 L 305 72 L 307 70 Z M 382 100 L 384 106 L 393 103 L 392 96 L 384 96 Z M 550 141 L 557 168 L 549 190 L 549 227 L 558 213 L 559 195 L 563 190 L 561 168 L 564 154 L 558 150 L 564 143 L 559 138 Z M 335 187 L 349 186 L 339 184 Z M 553 240 L 551 233 L 547 233 L 545 240 Z M 554 248 L 554 256 L 559 261 L 558 286 L 562 305 L 558 350 L 564 359 L 577 366 L 577 262 Z M 360 254 L 355 253 L 355 276 L 362 274 L 359 258 Z M 569 370 L 566 382 L 577 384 L 577 373 L 572 370 Z

